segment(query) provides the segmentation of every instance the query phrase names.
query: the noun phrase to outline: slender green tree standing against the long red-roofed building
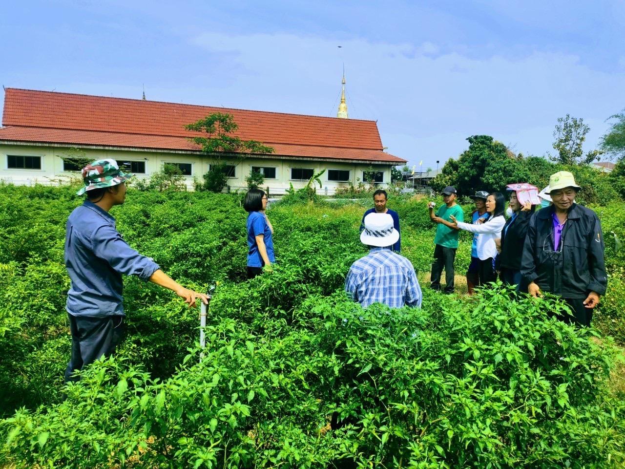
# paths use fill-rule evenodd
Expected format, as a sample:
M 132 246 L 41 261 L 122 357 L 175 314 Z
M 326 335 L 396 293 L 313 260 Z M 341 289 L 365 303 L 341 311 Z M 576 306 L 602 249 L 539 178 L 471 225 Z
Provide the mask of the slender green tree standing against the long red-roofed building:
M 200 145 L 202 151 L 216 163 L 212 164 L 210 171 L 204 174 L 204 189 L 208 191 L 221 192 L 226 186 L 227 168 L 222 158 L 229 159 L 236 166 L 249 154 L 274 153 L 271 146 L 232 135 L 239 129 L 232 114 L 213 113 L 197 122 L 186 124 L 184 128 L 206 134 L 206 136 L 192 137 L 190 140 Z

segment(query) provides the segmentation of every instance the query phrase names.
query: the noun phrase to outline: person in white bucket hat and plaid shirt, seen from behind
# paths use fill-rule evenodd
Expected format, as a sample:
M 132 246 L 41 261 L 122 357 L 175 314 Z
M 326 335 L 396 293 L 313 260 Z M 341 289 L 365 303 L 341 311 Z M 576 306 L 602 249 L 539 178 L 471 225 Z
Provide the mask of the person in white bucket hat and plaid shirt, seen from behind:
M 391 308 L 421 307 L 421 287 L 411 262 L 394 253 L 399 240 L 387 213 L 369 213 L 364 218 L 362 244 L 369 254 L 354 262 L 345 279 L 345 291 L 364 308 L 382 303 Z

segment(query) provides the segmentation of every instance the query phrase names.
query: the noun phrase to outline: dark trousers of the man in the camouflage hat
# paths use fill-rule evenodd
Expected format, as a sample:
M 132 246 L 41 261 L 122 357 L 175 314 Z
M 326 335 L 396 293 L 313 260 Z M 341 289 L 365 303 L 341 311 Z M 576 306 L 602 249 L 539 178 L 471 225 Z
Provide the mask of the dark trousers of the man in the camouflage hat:
M 69 330 L 72 334 L 72 358 L 65 370 L 65 382 L 78 381 L 75 370 L 109 356 L 124 337 L 124 316 L 92 318 L 89 316 L 69 316 Z

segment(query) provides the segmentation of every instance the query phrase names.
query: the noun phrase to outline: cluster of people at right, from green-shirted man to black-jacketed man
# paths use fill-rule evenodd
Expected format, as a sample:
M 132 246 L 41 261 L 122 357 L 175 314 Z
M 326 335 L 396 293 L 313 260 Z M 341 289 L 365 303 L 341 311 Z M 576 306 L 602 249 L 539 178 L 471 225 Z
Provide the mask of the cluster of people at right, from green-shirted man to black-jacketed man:
M 444 267 L 444 291 L 454 291 L 458 231 L 464 229 L 474 233 L 466 273 L 469 294 L 499 276 L 519 293 L 539 296 L 548 291 L 560 296 L 572 311 L 562 320 L 590 325 L 592 311 L 606 293 L 607 275 L 601 222 L 594 211 L 575 202 L 579 189 L 568 171 L 552 174 L 549 186 L 539 194 L 538 211 L 530 201 L 520 203 L 512 190 L 507 219 L 503 194 L 477 191 L 471 196 L 476 206 L 471 223 L 461 221 L 464 214 L 456 204 L 456 189 L 443 189 L 444 205 L 436 213 L 429 206 L 430 218 L 437 223 L 432 288 L 441 288 Z

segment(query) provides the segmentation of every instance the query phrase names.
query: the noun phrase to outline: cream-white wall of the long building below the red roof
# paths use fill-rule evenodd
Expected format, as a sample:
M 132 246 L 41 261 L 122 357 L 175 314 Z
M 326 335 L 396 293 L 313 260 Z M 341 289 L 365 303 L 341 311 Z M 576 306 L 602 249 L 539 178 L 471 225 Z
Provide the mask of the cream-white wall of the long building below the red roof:
M 123 149 L 97 149 L 97 148 L 81 148 L 84 152 L 84 158 L 96 159 L 113 158 L 118 162 L 121 161 L 142 161 L 145 163 L 146 174 L 136 174 L 138 178 L 149 178 L 150 174 L 159 171 L 164 163 L 190 163 L 192 165 L 191 176 L 185 176 L 187 188 L 192 190 L 194 187 L 194 179 L 202 181 L 202 175 L 209 170 L 209 165 L 214 163 L 211 158 L 199 154 L 189 153 L 164 153 L 158 151 L 132 151 Z M 8 156 L 39 156 L 41 158 L 41 169 L 12 169 L 8 168 Z M 63 146 L 47 146 L 34 144 L 0 144 L 0 181 L 13 183 L 18 185 L 60 185 L 68 183 L 71 178 L 80 178 L 77 171 L 64 171 L 63 159 L 65 156 L 79 156 L 70 147 Z M 81 157 L 83 155 L 80 155 Z M 228 163 L 227 161 L 224 161 Z M 382 171 L 384 179 L 381 187 L 391 182 L 391 165 L 368 163 L 344 163 L 328 160 L 303 160 L 303 159 L 279 159 L 279 158 L 246 158 L 238 163 L 235 168 L 233 178 L 228 178 L 227 184 L 230 190 L 246 190 L 247 183 L 245 178 L 251 173 L 252 166 L 261 166 L 263 168 L 276 168 L 276 178 L 266 178 L 262 184 L 262 188 L 269 188 L 272 195 L 284 194 L 286 189 L 292 186 L 295 189 L 302 188 L 306 185 L 306 181 L 291 179 L 292 168 L 313 169 L 314 173 L 319 173 L 322 169 L 326 172 L 321 176 L 323 187 L 319 189 L 317 184 L 317 193 L 332 195 L 337 188 L 347 187 L 351 182 L 357 186 L 362 181 L 363 171 L 372 166 L 374 171 Z M 349 171 L 349 181 L 331 181 L 329 180 L 328 169 L 338 169 Z

